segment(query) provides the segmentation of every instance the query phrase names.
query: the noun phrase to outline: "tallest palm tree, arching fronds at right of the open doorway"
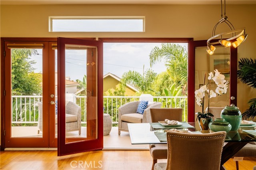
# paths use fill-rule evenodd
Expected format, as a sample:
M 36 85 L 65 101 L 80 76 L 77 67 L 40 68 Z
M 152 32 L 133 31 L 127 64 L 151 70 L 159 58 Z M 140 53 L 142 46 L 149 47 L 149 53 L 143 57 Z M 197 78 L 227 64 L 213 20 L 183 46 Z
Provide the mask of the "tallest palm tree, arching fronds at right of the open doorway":
M 186 86 L 188 79 L 188 53 L 185 47 L 173 43 L 162 43 L 150 52 L 150 66 L 165 60 L 167 71 L 178 85 Z

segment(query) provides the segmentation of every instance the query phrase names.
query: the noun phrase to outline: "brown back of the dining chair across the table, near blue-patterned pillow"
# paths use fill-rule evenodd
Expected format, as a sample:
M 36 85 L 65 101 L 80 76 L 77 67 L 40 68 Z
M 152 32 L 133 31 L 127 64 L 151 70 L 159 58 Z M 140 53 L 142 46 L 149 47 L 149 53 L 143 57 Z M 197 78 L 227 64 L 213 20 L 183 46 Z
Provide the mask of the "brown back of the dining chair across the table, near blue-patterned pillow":
M 182 108 L 151 108 L 150 115 L 152 123 L 164 121 L 164 119 L 182 121 Z

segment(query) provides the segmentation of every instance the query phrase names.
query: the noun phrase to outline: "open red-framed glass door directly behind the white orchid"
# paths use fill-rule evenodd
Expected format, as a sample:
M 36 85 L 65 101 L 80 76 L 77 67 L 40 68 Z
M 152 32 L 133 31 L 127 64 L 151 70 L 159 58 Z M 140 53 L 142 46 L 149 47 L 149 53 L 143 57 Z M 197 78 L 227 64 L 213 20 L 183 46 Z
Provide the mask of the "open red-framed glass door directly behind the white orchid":
M 190 41 L 188 50 L 188 121 L 196 120 L 195 113 L 202 112 L 202 107 L 196 104 L 195 90 L 204 84 L 204 74 L 206 81 L 208 73 L 214 69 L 222 72 L 225 79 L 229 81 L 227 94 L 210 99 L 210 107 L 224 107 L 226 105 L 236 105 L 237 96 L 237 49 L 234 47 L 225 48 L 216 46 L 215 55 L 208 55 L 206 52 L 207 40 Z M 211 83 L 212 89 L 216 85 Z M 207 98 L 207 97 L 206 97 Z M 207 102 L 208 99 L 206 99 Z M 207 106 L 206 106 L 207 107 Z M 204 107 L 204 110 L 206 109 Z

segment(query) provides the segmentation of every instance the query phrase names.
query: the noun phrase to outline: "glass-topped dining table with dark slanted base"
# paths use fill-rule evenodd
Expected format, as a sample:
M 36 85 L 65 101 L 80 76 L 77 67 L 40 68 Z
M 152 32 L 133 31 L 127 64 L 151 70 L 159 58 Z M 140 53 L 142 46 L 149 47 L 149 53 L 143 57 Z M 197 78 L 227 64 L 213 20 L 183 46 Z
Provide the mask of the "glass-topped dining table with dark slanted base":
M 182 122 L 186 126 L 181 127 L 164 127 L 158 125 L 159 123 L 128 123 L 128 130 L 130 133 L 131 144 L 166 144 L 166 132 L 171 128 L 177 130 L 189 131 L 192 133 L 211 133 L 211 130 L 201 130 L 198 123 L 195 122 Z M 154 128 L 153 128 L 154 127 Z M 229 131 L 226 134 L 224 147 L 222 150 L 220 170 L 225 170 L 224 163 L 243 148 L 248 142 L 255 142 L 255 126 L 240 127 L 238 131 Z M 165 136 L 165 137 L 164 137 Z

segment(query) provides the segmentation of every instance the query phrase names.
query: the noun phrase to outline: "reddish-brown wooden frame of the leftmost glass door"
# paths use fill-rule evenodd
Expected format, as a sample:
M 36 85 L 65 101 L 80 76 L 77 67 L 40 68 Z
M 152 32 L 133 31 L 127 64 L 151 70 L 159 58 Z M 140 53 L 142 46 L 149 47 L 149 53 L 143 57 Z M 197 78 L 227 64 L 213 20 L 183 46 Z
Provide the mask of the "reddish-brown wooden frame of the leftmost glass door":
M 37 39 L 38 40 L 38 39 Z M 1 57 L 1 89 L 3 91 L 6 91 L 6 95 L 2 95 L 1 99 L 1 150 L 4 150 L 6 147 L 47 147 L 48 146 L 48 141 L 49 137 L 46 135 L 46 133 L 43 133 L 42 138 L 26 138 L 26 137 L 11 137 L 11 119 L 10 115 L 6 111 L 10 111 L 11 108 L 11 103 L 6 103 L 7 101 L 11 101 L 11 56 L 10 56 L 10 49 L 7 48 L 7 43 L 43 43 L 44 48 L 43 48 L 43 53 L 48 53 L 48 45 L 49 42 L 47 41 L 41 41 L 40 40 L 35 40 L 35 39 L 30 39 L 26 38 L 24 40 L 23 38 L 1 38 L 1 51 L 5 51 L 4 53 L 7 55 L 7 57 Z M 3 52 L 2 52 L 3 53 Z M 3 56 L 3 55 L 2 55 Z M 42 61 L 43 63 L 43 73 L 45 75 L 48 74 L 48 60 L 44 59 Z M 5 76 L 5 74 L 8 74 L 9 76 Z M 45 84 L 48 84 L 48 76 L 43 77 L 43 81 Z M 48 86 L 43 85 L 43 95 L 47 95 L 48 93 Z M 44 105 L 48 106 L 48 99 L 45 97 L 43 99 Z M 46 107 L 47 110 L 47 107 Z M 43 113 L 44 119 L 48 119 L 46 112 Z M 43 122 L 43 128 L 45 132 L 48 131 L 48 121 Z M 4 129 L 4 130 L 3 130 Z M 4 133 L 2 133 L 4 132 Z

